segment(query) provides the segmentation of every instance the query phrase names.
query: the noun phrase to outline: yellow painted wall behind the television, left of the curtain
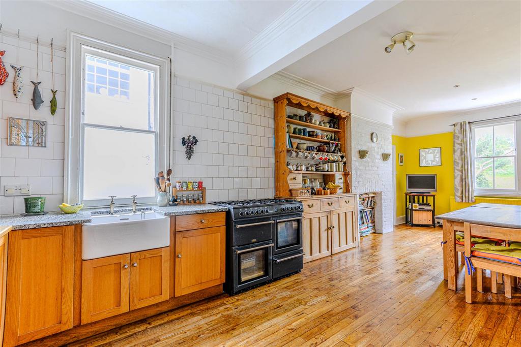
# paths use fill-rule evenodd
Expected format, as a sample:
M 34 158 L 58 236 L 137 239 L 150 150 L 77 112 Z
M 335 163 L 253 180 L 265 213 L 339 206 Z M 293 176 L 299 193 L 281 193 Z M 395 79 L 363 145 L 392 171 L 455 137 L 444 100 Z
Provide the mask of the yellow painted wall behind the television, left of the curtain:
M 405 175 L 436 174 L 436 214 L 450 211 L 450 197 L 454 195 L 454 172 L 452 161 L 452 132 L 416 137 L 392 136 L 396 146 L 396 215 L 405 215 Z M 420 148 L 441 147 L 441 166 L 419 165 Z M 404 154 L 403 166 L 398 165 L 398 154 Z

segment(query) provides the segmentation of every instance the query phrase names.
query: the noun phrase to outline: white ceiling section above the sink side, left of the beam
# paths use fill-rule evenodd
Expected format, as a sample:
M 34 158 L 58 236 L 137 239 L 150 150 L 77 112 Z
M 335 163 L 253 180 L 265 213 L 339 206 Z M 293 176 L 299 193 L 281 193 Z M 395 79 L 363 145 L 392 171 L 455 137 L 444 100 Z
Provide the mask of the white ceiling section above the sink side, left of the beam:
M 237 53 L 294 0 L 89 0 L 228 54 Z

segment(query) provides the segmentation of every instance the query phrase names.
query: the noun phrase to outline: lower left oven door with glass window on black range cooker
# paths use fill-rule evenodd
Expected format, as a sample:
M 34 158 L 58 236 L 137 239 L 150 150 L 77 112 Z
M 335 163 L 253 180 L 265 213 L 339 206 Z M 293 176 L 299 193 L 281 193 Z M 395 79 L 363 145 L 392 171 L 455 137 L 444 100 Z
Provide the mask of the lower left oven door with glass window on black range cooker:
M 269 241 L 233 247 L 233 292 L 271 280 L 271 248 Z

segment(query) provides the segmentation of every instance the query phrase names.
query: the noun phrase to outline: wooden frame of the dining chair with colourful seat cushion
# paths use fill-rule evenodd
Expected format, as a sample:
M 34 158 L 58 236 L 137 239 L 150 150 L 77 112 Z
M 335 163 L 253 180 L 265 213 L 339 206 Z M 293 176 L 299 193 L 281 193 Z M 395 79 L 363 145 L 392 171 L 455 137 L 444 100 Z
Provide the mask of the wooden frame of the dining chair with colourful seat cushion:
M 488 238 L 506 239 L 521 242 L 521 229 L 500 228 L 479 224 L 464 224 L 465 229 L 465 258 L 468 260 L 467 271 L 465 272 L 465 300 L 472 304 L 472 271 L 470 267 L 476 268 L 477 290 L 483 291 L 482 269 L 488 269 L 491 273 L 492 292 L 497 292 L 496 274 L 504 275 L 505 297 L 512 298 L 512 277 L 521 277 L 521 265 L 503 263 L 497 260 L 490 260 L 472 256 L 472 236 Z

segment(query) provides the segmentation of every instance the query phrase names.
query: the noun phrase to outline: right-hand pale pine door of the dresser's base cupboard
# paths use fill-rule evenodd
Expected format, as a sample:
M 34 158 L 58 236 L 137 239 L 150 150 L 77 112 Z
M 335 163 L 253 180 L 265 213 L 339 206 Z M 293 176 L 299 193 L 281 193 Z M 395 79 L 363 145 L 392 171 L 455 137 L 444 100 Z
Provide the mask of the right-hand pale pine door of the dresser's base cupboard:
M 356 247 L 356 215 L 353 209 L 331 211 L 332 253 Z

